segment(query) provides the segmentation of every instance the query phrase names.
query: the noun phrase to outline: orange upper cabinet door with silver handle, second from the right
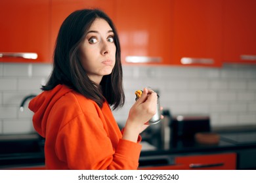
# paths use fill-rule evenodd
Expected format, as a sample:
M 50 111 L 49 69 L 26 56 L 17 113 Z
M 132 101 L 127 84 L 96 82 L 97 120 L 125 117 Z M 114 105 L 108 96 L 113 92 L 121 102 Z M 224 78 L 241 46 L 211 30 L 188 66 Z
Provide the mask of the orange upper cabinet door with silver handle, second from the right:
M 173 64 L 221 66 L 222 0 L 176 0 Z

